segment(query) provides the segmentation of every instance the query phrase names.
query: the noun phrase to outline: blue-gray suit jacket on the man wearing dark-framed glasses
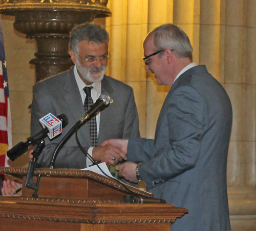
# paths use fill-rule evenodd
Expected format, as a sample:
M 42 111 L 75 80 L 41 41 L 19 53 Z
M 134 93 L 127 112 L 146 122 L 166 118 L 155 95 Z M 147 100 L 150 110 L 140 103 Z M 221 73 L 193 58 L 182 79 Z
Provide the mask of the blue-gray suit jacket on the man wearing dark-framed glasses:
M 184 72 L 168 92 L 155 140 L 129 139 L 127 158 L 157 198 L 189 210 L 172 231 L 230 230 L 226 166 L 229 97 L 206 70 Z

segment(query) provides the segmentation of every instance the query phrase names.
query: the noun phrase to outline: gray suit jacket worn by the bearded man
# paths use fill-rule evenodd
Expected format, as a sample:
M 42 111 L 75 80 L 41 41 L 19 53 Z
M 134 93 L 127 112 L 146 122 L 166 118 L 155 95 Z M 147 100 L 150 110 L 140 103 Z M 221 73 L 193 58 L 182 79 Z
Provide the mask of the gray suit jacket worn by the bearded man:
M 98 143 L 114 138 L 140 137 L 133 89 L 104 75 L 101 81 L 101 93 L 110 95 L 113 104 L 101 111 Z M 32 136 L 42 130 L 39 119 L 50 112 L 55 116 L 64 113 L 69 123 L 59 137 L 52 141 L 48 137 L 45 139 L 46 147 L 39 156 L 38 163 L 46 167 L 50 165 L 56 145 L 85 114 L 73 68 L 35 84 L 31 111 Z M 78 138 L 84 148 L 88 149 L 92 146 L 88 124 L 80 127 Z M 78 148 L 75 135 L 58 153 L 55 167 L 79 169 L 86 167 L 86 156 Z

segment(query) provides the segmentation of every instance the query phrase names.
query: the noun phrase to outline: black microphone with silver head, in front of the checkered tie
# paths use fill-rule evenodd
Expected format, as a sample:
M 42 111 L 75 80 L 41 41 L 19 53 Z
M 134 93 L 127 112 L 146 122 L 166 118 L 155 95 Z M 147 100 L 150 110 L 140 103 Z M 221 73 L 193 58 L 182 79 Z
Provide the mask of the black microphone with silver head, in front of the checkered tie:
M 80 119 L 81 122 L 84 120 L 91 119 L 97 112 L 101 110 L 102 107 L 112 104 L 113 100 L 108 95 L 101 94 L 94 104 L 90 106 L 90 109 L 86 114 Z

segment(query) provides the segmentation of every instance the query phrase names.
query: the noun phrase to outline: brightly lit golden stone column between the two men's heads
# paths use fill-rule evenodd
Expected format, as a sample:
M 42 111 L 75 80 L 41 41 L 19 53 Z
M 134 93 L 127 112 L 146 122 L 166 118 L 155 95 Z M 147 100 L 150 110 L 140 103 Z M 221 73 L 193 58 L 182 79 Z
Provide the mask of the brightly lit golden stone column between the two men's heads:
M 142 42 L 147 33 L 147 1 L 113 0 L 108 7 L 113 14 L 106 19 L 106 30 L 111 38 L 109 74 L 133 87 L 140 133 L 145 136 L 146 82 L 141 58 Z

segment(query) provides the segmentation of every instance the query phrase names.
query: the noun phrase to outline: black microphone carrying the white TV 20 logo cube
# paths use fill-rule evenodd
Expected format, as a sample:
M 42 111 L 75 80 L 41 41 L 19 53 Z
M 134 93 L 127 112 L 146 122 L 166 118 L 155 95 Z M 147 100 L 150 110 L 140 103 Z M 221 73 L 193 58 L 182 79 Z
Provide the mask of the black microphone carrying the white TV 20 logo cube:
M 7 151 L 7 157 L 14 161 L 20 156 L 22 156 L 27 150 L 28 146 L 38 142 L 39 140 L 46 137 L 48 134 L 49 138 L 52 139 L 59 135 L 62 131 L 62 127 L 67 126 L 68 117 L 65 114 L 60 114 L 55 117 L 53 114 L 49 113 L 48 115 L 39 119 L 41 124 L 44 127 L 39 133 L 35 134 L 32 137 L 29 137 L 27 141 L 19 142 L 14 147 L 12 147 L 9 151 Z

